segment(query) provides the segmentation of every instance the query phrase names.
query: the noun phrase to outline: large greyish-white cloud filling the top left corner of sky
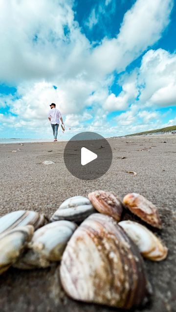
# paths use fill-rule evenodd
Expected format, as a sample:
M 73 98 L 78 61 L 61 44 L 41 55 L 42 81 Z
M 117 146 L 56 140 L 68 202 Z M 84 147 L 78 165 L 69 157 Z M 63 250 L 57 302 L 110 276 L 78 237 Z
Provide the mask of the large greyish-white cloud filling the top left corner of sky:
M 0 1 L 0 80 L 51 78 L 75 72 L 89 47 L 71 0 Z

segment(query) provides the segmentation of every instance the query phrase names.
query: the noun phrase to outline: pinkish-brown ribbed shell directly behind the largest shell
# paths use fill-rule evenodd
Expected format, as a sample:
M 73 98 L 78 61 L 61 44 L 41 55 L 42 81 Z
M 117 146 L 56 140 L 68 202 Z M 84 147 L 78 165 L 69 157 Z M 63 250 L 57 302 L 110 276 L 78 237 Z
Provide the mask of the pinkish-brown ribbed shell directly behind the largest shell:
M 123 207 L 115 195 L 110 192 L 95 191 L 88 194 L 88 199 L 99 213 L 110 215 L 120 221 Z

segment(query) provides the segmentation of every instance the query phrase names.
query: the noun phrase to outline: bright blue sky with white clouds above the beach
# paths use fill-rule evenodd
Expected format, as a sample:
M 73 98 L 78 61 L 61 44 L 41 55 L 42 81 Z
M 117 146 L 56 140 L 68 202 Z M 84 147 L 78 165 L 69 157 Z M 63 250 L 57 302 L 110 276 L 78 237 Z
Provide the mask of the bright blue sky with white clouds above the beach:
M 0 137 L 176 125 L 174 0 L 0 0 Z M 54 88 L 53 86 L 56 86 Z

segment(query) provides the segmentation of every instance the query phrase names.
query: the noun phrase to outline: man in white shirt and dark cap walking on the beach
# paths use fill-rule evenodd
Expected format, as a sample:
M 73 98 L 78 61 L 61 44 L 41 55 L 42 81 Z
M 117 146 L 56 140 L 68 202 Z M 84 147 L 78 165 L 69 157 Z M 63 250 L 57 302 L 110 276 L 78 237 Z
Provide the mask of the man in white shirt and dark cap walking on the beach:
M 57 135 L 58 135 L 58 127 L 59 127 L 59 118 L 61 119 L 62 122 L 62 126 L 64 128 L 64 122 L 63 122 L 63 118 L 61 115 L 61 112 L 56 108 L 56 104 L 51 103 L 51 105 L 49 105 L 51 107 L 51 109 L 49 110 L 48 113 L 48 119 L 51 122 L 51 127 L 53 130 L 53 136 L 54 136 L 54 142 L 57 141 Z

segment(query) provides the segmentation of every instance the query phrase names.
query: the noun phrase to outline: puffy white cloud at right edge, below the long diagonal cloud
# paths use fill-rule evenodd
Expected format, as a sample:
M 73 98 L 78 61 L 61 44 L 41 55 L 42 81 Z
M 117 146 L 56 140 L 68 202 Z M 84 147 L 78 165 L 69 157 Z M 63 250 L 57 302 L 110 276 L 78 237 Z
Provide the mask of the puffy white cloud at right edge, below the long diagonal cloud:
M 118 81 L 122 92 L 106 99 L 108 110 L 127 109 L 132 103 L 139 108 L 176 105 L 176 54 L 163 49 L 149 50 L 142 58 L 141 66 L 125 74 Z M 136 98 L 138 100 L 136 101 Z

